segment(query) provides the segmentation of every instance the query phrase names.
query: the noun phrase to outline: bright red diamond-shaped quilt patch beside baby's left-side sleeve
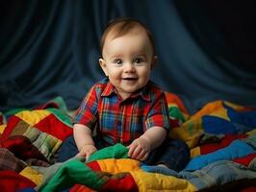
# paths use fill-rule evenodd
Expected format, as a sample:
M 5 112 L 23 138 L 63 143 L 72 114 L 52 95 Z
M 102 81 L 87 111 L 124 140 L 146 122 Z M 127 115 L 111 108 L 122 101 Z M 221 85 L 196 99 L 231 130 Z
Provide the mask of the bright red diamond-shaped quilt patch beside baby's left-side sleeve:
M 46 116 L 34 127 L 38 128 L 39 131 L 53 135 L 62 141 L 73 133 L 73 130 L 59 120 L 54 114 Z

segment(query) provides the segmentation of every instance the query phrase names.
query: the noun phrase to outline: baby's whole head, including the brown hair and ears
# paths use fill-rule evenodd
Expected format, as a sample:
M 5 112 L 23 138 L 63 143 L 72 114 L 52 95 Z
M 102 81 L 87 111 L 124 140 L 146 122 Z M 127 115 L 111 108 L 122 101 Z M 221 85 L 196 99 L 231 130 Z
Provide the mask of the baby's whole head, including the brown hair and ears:
M 123 98 L 147 84 L 157 59 L 149 30 L 132 18 L 112 21 L 101 38 L 100 66 Z

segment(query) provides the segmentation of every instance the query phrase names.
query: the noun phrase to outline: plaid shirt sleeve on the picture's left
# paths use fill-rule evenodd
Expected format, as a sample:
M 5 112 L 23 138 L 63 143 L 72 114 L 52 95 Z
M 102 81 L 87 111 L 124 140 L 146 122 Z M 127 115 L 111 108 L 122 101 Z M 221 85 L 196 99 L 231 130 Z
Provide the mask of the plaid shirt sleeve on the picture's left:
M 90 88 L 89 93 L 84 98 L 80 107 L 77 109 L 73 123 L 83 124 L 92 130 L 96 122 L 97 106 L 98 99 L 94 85 Z

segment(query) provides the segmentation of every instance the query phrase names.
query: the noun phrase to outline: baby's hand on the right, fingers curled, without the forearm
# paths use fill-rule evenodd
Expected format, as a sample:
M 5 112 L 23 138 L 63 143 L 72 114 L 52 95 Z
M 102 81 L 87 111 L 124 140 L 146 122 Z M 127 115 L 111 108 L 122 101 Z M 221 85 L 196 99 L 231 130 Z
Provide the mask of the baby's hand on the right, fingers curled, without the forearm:
M 150 142 L 144 136 L 135 139 L 128 149 L 128 156 L 137 160 L 145 160 L 151 151 Z

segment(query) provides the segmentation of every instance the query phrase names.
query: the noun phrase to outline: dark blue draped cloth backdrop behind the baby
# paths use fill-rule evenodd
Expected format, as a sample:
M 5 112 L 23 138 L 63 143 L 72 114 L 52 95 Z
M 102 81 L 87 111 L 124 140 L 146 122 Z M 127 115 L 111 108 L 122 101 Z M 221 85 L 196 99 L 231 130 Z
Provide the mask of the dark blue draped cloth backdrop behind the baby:
M 0 110 L 62 96 L 77 108 L 103 77 L 106 23 L 132 16 L 156 41 L 152 80 L 191 111 L 214 100 L 256 106 L 254 0 L 9 0 L 0 3 Z

